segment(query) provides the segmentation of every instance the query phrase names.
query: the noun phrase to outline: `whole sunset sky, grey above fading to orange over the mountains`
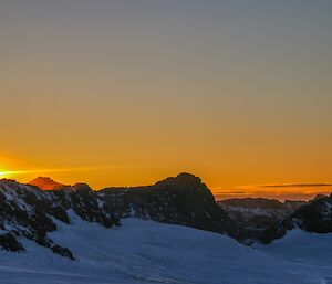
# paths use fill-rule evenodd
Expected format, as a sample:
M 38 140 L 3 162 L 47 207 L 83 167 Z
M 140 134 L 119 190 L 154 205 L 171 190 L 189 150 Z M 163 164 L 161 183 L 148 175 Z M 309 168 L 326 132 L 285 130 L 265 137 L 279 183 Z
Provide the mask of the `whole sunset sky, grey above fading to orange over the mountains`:
M 0 176 L 332 191 L 331 14 L 329 0 L 1 0 Z

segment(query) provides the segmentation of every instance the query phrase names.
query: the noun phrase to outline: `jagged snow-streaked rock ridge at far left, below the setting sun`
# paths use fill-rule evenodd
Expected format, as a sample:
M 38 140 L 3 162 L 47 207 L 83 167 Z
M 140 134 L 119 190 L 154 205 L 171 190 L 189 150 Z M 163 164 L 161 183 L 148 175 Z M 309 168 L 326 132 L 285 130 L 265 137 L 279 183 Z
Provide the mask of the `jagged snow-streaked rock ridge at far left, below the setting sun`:
M 82 185 L 43 191 L 38 187 L 3 179 L 0 181 L 0 248 L 23 250 L 19 238 L 24 236 L 70 259 L 73 259 L 71 252 L 54 244 L 48 236 L 49 232 L 56 230 L 54 219 L 69 223 L 68 210 L 71 209 L 83 220 L 100 222 L 107 228 L 118 223 L 98 206 L 96 194 Z

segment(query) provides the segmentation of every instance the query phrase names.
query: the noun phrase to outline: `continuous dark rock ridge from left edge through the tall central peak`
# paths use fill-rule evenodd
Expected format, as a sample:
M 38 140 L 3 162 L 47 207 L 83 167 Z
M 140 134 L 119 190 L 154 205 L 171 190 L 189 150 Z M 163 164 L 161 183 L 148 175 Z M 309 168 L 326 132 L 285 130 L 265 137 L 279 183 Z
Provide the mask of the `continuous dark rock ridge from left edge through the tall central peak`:
M 24 250 L 20 239 L 27 238 L 70 259 L 74 259 L 71 251 L 48 234 L 56 230 L 55 220 L 71 222 L 70 211 L 105 228 L 118 224 L 121 218 L 136 217 L 236 235 L 230 218 L 208 188 L 188 173 L 149 187 L 102 191 L 93 191 L 84 183 L 44 191 L 3 179 L 0 208 L 0 249 Z

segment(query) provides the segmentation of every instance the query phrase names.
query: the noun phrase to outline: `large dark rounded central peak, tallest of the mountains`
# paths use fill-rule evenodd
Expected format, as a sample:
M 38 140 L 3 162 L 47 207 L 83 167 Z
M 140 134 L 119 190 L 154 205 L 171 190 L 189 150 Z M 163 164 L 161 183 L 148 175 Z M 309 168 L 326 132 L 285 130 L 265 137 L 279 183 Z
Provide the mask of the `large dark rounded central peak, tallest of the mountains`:
M 235 235 L 235 225 L 198 177 L 181 173 L 154 186 L 98 191 L 107 212 Z

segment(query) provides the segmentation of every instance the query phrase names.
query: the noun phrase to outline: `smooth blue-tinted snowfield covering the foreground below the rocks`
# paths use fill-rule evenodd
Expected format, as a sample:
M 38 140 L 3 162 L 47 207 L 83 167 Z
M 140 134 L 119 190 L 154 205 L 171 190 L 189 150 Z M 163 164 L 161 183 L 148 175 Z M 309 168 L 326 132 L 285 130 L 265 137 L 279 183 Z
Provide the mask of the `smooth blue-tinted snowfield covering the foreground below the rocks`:
M 221 234 L 138 219 L 112 229 L 74 213 L 71 220 L 56 221 L 50 236 L 75 261 L 24 240 L 24 253 L 0 251 L 0 283 L 332 283 L 332 234 L 294 231 L 251 249 Z

